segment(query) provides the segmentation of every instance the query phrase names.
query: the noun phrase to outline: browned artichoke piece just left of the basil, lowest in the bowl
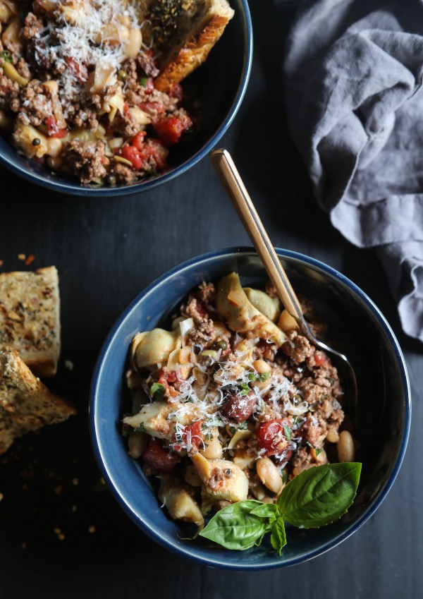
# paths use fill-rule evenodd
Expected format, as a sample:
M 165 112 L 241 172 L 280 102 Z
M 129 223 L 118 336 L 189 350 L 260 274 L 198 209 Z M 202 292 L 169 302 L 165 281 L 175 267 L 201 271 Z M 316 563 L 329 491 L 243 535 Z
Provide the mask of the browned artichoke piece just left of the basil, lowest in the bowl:
M 200 533 L 204 528 L 204 518 L 185 485 L 167 476 L 161 476 L 160 479 L 159 500 L 166 506 L 173 520 L 192 522 L 197 526 L 197 534 Z

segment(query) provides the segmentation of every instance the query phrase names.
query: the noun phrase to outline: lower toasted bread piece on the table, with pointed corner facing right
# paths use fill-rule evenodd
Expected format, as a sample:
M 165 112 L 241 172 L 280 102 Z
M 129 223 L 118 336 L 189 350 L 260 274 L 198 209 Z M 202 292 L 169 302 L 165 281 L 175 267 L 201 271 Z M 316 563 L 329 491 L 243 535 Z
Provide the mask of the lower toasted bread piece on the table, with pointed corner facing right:
M 75 414 L 75 408 L 49 392 L 18 352 L 0 349 L 0 454 L 17 437 Z

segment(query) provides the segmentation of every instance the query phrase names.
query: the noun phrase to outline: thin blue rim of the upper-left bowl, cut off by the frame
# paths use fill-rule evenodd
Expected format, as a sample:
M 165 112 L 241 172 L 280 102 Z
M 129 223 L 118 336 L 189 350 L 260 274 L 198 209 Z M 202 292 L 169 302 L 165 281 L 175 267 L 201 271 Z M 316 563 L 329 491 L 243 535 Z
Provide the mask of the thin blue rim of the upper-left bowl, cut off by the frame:
M 85 195 L 92 197 L 101 197 L 101 198 L 110 198 L 117 195 L 130 195 L 131 193 L 140 193 L 142 191 L 151 190 L 162 183 L 166 183 L 167 181 L 171 181 L 175 177 L 185 173 L 191 167 L 193 167 L 197 162 L 200 162 L 205 155 L 207 155 L 210 150 L 213 149 L 214 145 L 221 139 L 221 137 L 228 131 L 229 126 L 233 119 L 235 119 L 238 110 L 240 109 L 240 105 L 243 102 L 245 92 L 247 90 L 247 85 L 250 80 L 251 74 L 251 66 L 252 66 L 252 50 L 253 50 L 253 34 L 252 34 L 252 21 L 250 15 L 250 8 L 248 6 L 247 0 L 240 0 L 243 11 L 241 11 L 241 18 L 243 18 L 243 36 L 244 36 L 244 44 L 245 44 L 245 54 L 243 57 L 243 70 L 242 77 L 240 79 L 240 83 L 238 85 L 238 90 L 236 92 L 235 98 L 231 104 L 231 107 L 228 109 L 226 113 L 226 117 L 221 123 L 219 129 L 214 133 L 212 138 L 209 139 L 207 143 L 202 145 L 195 154 L 190 157 L 188 160 L 185 160 L 183 164 L 180 164 L 175 169 L 168 171 L 162 175 L 155 177 L 154 179 L 147 179 L 144 181 L 140 181 L 139 183 L 134 183 L 131 186 L 121 186 L 116 188 L 85 188 L 82 185 L 78 185 L 78 183 L 71 181 L 67 181 L 66 179 L 61 179 L 58 181 L 53 181 L 50 179 L 46 179 L 44 175 L 38 174 L 35 172 L 27 171 L 25 169 L 25 165 L 20 166 L 20 164 L 16 164 L 15 162 L 11 162 L 4 152 L 3 148 L 0 145 L 0 164 L 3 164 L 4 167 L 12 171 L 13 173 L 21 176 L 23 179 L 30 181 L 31 183 L 36 183 L 39 186 L 42 186 L 47 189 L 51 189 L 57 191 L 59 193 L 68 193 L 70 195 Z M 4 140 L 7 143 L 6 140 Z M 8 145 L 8 147 L 11 147 Z M 11 147 L 13 152 L 16 150 Z M 49 169 L 46 168 L 46 171 Z M 51 171 L 51 174 L 55 175 L 54 171 Z

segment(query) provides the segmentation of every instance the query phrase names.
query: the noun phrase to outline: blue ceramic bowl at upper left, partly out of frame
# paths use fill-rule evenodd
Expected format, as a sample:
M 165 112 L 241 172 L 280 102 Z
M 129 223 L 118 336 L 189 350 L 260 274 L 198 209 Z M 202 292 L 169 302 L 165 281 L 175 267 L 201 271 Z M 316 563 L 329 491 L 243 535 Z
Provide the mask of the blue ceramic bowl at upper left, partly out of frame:
M 152 189 L 187 171 L 216 145 L 238 112 L 252 61 L 252 25 L 247 0 L 230 0 L 235 15 L 207 61 L 188 77 L 184 86 L 201 104 L 204 123 L 190 143 L 176 145 L 170 169 L 152 179 L 116 187 L 83 186 L 42 167 L 18 152 L 0 136 L 0 164 L 32 183 L 74 195 L 126 195 Z

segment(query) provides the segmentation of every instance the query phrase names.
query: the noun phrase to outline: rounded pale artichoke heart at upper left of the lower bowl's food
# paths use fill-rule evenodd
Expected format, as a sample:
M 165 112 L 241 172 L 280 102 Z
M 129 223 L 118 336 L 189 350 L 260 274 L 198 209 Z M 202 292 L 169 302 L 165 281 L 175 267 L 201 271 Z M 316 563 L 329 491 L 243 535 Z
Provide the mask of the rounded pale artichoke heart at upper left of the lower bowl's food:
M 135 369 L 147 368 L 166 363 L 171 352 L 180 348 L 180 333 L 153 329 L 137 333 L 132 341 L 131 351 Z

